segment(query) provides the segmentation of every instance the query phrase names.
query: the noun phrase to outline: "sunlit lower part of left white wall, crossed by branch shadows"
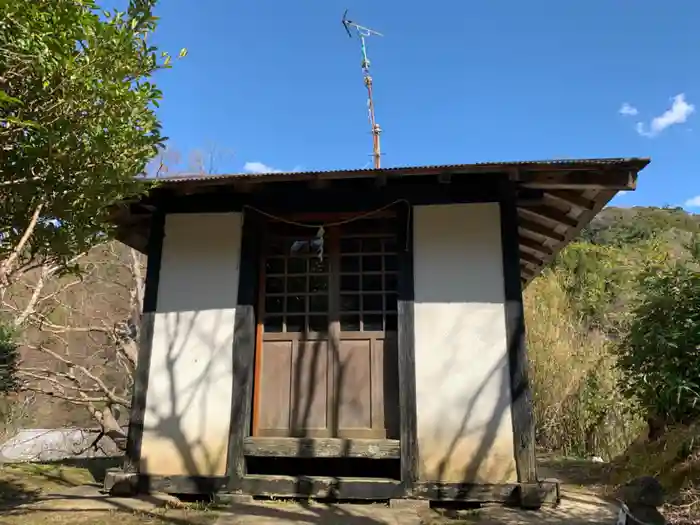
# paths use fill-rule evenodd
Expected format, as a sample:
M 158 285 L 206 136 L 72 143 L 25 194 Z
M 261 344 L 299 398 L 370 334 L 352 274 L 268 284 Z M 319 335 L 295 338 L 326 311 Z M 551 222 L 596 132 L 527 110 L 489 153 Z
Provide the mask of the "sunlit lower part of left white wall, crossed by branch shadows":
M 232 309 L 158 314 L 144 416 L 142 472 L 225 475 L 234 315 Z

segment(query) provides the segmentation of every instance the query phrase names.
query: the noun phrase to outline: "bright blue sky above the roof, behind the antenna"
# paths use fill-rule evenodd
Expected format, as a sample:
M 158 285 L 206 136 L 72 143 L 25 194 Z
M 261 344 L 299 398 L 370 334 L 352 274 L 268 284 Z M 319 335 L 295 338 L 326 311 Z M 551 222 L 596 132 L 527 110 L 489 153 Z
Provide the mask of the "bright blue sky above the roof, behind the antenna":
M 171 148 L 219 172 L 368 166 L 346 8 L 385 35 L 368 42 L 383 166 L 648 156 L 615 203 L 700 209 L 691 0 L 163 0 L 156 44 L 189 51 L 156 79 Z

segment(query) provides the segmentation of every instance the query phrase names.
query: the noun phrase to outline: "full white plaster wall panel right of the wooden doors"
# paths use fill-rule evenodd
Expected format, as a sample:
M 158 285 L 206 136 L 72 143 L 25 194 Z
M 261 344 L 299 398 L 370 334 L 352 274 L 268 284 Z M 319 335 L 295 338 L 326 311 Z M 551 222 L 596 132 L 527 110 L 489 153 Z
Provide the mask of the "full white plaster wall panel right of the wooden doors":
M 414 208 L 419 478 L 516 481 L 497 203 Z

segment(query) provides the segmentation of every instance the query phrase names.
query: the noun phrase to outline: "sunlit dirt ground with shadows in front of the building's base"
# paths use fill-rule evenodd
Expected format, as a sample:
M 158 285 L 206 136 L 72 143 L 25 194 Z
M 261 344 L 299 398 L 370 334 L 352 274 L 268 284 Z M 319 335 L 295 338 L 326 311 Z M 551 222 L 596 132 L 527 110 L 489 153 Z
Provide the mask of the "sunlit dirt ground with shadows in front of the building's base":
M 88 468 L 71 465 L 0 467 L 2 525 L 583 525 L 614 523 L 616 509 L 599 496 L 599 465 L 544 459 L 542 477 L 565 482 L 562 504 L 539 512 L 500 506 L 476 510 L 395 509 L 387 505 L 259 502 L 217 508 L 183 503 L 166 495 L 112 498 L 99 492 L 109 461 L 93 460 Z

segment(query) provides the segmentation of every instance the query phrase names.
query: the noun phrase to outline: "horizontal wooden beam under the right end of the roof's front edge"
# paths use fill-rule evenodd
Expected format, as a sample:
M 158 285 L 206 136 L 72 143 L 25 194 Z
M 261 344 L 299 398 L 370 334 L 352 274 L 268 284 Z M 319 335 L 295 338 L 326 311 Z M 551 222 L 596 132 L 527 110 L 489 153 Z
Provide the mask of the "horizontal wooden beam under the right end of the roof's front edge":
M 632 170 L 568 172 L 526 171 L 520 175 L 528 188 L 633 190 L 637 173 Z

